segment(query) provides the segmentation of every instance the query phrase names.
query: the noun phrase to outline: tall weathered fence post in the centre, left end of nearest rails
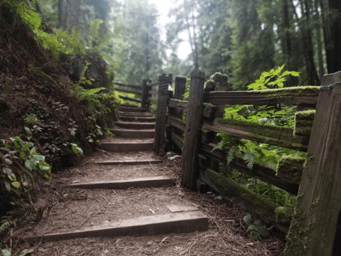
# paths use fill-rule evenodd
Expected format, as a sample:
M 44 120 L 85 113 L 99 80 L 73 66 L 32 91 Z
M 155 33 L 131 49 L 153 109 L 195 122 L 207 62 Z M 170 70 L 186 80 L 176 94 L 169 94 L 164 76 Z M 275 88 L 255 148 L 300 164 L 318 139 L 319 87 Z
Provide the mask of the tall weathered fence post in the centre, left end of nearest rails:
M 183 142 L 183 171 L 181 183 L 186 188 L 195 190 L 197 178 L 197 149 L 200 136 L 202 112 L 202 97 L 204 90 L 205 73 L 195 70 L 190 75 L 190 95 Z

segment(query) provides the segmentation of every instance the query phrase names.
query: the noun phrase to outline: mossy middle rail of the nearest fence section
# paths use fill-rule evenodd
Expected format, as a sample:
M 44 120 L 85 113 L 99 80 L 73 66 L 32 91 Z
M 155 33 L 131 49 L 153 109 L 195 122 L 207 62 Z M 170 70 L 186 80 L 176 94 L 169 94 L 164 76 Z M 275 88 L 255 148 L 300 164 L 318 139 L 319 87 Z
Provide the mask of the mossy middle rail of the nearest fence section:
M 254 125 L 257 125 L 257 123 L 254 123 Z M 281 127 L 278 127 L 278 131 L 275 132 L 276 136 L 271 137 L 271 134 L 257 134 L 255 130 L 252 131 L 248 127 L 243 127 L 242 124 L 221 124 L 215 119 L 213 122 L 204 121 L 202 129 L 209 129 L 212 132 L 229 132 L 234 137 L 249 139 L 254 142 L 262 142 L 274 146 L 283 146 L 288 149 L 299 151 L 307 151 L 309 143 L 309 137 L 294 136 L 293 129 L 289 128 L 281 129 Z M 271 126 L 271 129 L 275 129 L 274 126 Z M 259 132 L 263 130 L 264 126 L 259 124 Z

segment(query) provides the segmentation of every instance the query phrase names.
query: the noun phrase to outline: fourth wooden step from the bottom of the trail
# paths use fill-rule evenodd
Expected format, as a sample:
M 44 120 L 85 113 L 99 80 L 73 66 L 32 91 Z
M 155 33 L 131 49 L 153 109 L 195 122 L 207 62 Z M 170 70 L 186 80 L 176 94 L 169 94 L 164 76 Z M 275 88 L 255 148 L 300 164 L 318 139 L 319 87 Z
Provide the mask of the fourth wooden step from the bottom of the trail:
M 111 152 L 152 151 L 154 142 L 102 142 L 97 147 Z

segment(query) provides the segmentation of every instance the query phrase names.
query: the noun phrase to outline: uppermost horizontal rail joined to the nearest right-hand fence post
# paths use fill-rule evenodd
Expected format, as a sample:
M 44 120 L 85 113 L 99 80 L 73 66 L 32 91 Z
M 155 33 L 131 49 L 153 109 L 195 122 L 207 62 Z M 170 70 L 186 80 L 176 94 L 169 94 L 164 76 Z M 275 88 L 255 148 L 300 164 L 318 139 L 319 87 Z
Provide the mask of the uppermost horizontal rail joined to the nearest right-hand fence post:
M 281 89 L 278 89 L 281 90 Z M 271 92 L 271 95 L 274 93 Z M 274 105 L 278 103 L 298 105 L 302 107 L 316 107 L 318 93 L 306 93 L 297 96 L 256 94 L 254 92 L 204 92 L 203 102 L 210 102 L 214 105 Z

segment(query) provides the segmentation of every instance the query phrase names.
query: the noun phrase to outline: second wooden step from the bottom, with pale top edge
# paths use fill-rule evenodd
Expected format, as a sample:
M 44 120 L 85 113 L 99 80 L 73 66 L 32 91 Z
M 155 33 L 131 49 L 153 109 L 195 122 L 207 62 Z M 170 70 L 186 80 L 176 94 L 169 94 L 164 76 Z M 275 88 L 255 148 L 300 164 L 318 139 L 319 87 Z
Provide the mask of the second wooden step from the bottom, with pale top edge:
M 70 188 L 84 188 L 84 189 L 127 189 L 127 188 L 160 188 L 163 186 L 171 186 L 175 182 L 175 178 L 168 176 L 156 176 L 148 178 L 134 178 L 131 180 L 121 181 L 101 181 L 90 183 L 74 183 Z

